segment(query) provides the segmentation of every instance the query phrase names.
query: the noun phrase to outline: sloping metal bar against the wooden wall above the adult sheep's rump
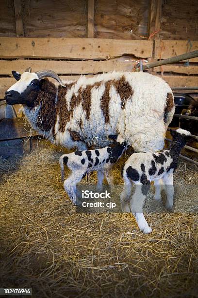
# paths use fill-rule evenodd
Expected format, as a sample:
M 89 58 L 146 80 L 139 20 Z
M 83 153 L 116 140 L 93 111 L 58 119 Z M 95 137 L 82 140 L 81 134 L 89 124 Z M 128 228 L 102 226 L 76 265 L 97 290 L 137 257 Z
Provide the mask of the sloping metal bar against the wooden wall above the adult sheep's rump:
M 198 57 L 198 51 L 193 51 L 193 52 L 189 52 L 186 54 L 182 54 L 179 56 L 175 56 L 175 57 L 171 57 L 171 58 L 167 58 L 164 60 L 160 60 L 157 62 L 152 62 L 152 63 L 148 63 L 146 65 L 143 66 L 143 70 L 146 69 L 150 69 L 156 66 L 161 66 L 161 65 L 165 65 L 165 64 L 171 64 L 171 63 L 176 63 L 182 60 L 187 60 L 187 59 L 191 59 L 191 58 L 195 58 Z

